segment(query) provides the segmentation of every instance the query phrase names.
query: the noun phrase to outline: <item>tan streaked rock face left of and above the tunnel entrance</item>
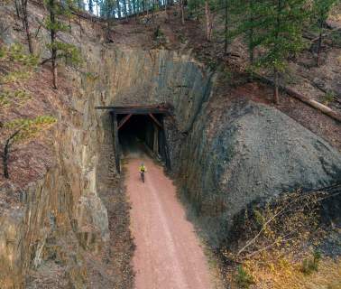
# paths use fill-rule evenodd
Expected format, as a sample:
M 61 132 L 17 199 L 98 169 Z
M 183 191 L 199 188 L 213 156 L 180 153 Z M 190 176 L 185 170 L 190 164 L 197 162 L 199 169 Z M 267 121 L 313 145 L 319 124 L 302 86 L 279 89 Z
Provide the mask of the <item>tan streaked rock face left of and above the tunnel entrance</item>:
M 106 46 L 77 39 L 76 34 L 62 37 L 81 43 L 88 73 L 63 71 L 73 81 L 73 90 L 69 107 L 56 111 L 57 164 L 41 181 L 23 189 L 20 206 L 0 216 L 0 287 L 4 289 L 24 287 L 30 268 L 45 270 L 54 263 L 67 268 L 56 278 L 66 279 L 72 288 L 84 288 L 88 282 L 84 253 L 99 253 L 106 247 L 108 217 L 102 199 L 112 198 L 107 198 L 110 191 L 103 175 L 115 167 L 115 161 L 100 155 L 112 132 L 108 112 L 96 106 L 169 103 L 181 129 L 187 130 L 208 96 L 209 75 L 189 56 Z M 16 39 L 10 29 L 6 42 Z

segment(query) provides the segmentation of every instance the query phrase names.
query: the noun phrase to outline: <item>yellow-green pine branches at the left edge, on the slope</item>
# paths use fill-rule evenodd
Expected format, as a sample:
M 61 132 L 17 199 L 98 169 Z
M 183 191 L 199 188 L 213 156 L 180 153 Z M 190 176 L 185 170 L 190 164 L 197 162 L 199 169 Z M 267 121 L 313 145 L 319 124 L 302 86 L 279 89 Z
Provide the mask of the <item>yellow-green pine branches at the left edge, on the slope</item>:
M 21 107 L 32 99 L 32 95 L 19 84 L 30 79 L 38 65 L 38 59 L 32 54 L 26 54 L 23 46 L 14 44 L 0 49 L 0 158 L 2 159 L 3 174 L 10 178 L 9 164 L 11 154 L 16 144 L 24 144 L 34 136 L 50 128 L 57 119 L 51 116 L 18 117 L 4 119 L 6 111 L 13 107 Z M 16 86 L 14 86 L 16 84 Z M 19 86 L 19 87 L 18 87 Z

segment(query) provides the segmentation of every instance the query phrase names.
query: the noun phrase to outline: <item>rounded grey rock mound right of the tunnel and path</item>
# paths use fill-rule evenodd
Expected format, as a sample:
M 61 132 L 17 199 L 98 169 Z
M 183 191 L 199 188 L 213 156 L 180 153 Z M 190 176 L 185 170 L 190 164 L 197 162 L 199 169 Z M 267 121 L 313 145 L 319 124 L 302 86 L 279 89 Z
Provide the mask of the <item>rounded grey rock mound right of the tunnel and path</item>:
M 253 200 L 341 181 L 341 154 L 275 108 L 235 100 L 213 131 L 208 115 L 180 152 L 179 176 L 214 245 Z

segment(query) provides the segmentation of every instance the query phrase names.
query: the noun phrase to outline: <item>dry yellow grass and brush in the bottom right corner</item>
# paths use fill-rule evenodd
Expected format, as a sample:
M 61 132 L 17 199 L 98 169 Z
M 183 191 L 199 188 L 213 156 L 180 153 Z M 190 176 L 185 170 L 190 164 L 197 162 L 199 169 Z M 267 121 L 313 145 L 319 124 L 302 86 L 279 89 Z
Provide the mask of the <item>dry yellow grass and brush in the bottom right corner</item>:
M 237 246 L 223 252 L 235 264 L 225 275 L 231 288 L 341 289 L 341 256 L 318 249 L 340 233 L 318 221 L 319 203 L 327 198 L 327 192 L 297 191 L 245 211 L 235 227 Z

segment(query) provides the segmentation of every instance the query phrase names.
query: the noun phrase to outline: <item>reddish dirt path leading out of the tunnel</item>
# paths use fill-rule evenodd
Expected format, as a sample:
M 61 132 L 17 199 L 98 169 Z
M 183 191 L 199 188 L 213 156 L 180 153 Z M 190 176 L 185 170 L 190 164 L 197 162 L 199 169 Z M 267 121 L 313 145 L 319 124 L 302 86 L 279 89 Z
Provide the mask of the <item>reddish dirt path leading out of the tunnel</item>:
M 148 172 L 141 182 L 140 163 L 141 158 L 130 158 L 125 165 L 136 245 L 135 288 L 212 288 L 206 257 L 177 200 L 174 185 L 161 166 L 145 157 Z

